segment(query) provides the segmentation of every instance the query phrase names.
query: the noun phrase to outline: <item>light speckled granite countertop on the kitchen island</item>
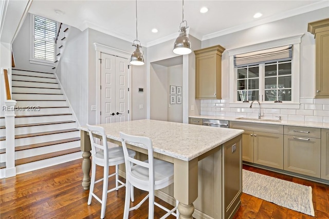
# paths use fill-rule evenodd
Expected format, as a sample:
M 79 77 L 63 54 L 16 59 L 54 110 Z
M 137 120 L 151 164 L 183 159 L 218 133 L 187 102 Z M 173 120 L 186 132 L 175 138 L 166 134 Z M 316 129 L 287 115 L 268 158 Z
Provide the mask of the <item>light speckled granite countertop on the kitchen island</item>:
M 147 136 L 152 139 L 154 152 L 191 161 L 211 149 L 242 134 L 240 129 L 196 126 L 156 120 L 134 120 L 120 123 L 101 124 L 106 136 L 121 141 L 119 132 Z M 80 127 L 87 131 L 86 127 Z M 140 145 L 135 145 L 140 147 Z

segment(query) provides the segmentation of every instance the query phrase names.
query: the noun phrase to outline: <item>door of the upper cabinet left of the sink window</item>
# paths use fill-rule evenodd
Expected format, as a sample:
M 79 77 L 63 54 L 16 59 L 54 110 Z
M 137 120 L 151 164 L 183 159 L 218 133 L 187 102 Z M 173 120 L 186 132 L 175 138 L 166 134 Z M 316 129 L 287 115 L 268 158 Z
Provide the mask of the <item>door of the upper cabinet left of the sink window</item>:
M 218 77 L 221 76 L 221 62 L 217 56 L 210 54 L 196 58 L 195 98 L 221 98 L 221 93 L 217 93 L 217 86 L 221 86 L 221 78 Z

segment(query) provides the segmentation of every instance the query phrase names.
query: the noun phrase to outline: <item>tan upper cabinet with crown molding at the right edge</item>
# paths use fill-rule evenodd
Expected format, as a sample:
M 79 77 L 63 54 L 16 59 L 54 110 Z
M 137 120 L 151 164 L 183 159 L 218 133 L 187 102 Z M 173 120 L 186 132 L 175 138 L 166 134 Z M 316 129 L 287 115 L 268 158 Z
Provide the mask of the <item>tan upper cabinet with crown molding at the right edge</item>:
M 329 18 L 308 23 L 315 37 L 315 98 L 329 98 Z

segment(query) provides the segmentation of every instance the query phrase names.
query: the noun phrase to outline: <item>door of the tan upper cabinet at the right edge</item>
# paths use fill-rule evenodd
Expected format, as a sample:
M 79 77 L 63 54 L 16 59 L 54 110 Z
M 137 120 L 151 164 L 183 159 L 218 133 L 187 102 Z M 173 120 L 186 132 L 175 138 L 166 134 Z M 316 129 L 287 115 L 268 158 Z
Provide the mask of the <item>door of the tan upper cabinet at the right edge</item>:
M 327 27 L 327 29 L 329 29 Z M 329 98 L 329 30 L 319 32 L 316 41 L 316 98 Z

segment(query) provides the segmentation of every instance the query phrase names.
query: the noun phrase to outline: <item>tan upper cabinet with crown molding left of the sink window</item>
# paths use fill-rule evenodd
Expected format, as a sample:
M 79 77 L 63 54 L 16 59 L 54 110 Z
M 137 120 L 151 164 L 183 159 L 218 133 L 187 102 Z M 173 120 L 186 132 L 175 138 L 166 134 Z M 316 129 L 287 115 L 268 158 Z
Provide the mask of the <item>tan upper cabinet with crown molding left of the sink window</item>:
M 222 53 L 225 48 L 213 46 L 195 50 L 195 98 L 222 98 Z

